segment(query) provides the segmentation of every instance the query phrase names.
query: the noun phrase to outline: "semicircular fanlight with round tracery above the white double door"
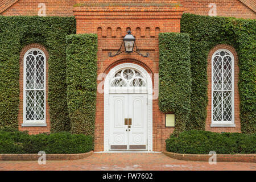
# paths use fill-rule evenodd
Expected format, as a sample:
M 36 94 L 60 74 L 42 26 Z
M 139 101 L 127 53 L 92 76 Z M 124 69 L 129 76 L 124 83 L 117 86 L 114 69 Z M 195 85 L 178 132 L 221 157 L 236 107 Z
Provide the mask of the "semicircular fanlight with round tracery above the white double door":
M 146 81 L 144 80 L 142 73 L 132 68 L 125 68 L 115 73 L 110 81 L 110 86 L 145 87 Z

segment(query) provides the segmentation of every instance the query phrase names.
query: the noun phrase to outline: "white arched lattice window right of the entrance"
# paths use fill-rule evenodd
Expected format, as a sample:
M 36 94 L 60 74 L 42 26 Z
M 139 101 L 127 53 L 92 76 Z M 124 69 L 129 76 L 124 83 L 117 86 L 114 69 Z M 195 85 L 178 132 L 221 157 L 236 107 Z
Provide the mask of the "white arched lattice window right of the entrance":
M 234 126 L 234 56 L 227 49 L 212 56 L 211 126 Z

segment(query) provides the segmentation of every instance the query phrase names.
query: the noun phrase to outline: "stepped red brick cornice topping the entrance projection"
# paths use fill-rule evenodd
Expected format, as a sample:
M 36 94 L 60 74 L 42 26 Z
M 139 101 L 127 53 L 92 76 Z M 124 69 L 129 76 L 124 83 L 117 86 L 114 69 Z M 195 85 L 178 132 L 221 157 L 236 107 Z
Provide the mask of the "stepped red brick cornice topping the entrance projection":
M 75 4 L 76 19 L 175 19 L 184 8 L 177 3 L 83 3 Z

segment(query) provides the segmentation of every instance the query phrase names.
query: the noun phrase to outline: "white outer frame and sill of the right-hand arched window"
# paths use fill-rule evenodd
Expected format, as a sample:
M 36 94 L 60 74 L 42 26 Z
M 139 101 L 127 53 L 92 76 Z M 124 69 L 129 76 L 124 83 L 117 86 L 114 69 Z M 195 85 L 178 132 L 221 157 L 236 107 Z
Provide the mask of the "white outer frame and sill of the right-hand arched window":
M 216 91 L 216 90 L 213 90 L 213 86 L 214 86 L 214 82 L 213 82 L 213 71 L 214 71 L 214 68 L 213 68 L 213 59 L 214 59 L 214 56 L 216 55 L 217 52 L 220 52 L 220 51 L 226 51 L 230 54 L 230 56 L 232 57 L 232 120 L 231 121 L 213 121 L 213 92 Z M 212 55 L 212 106 L 211 106 L 211 113 L 212 113 L 212 123 L 210 125 L 210 127 L 236 127 L 236 125 L 234 124 L 234 55 L 232 52 L 230 52 L 228 49 L 218 49 L 217 51 L 215 51 Z M 223 67 L 223 61 L 222 61 L 222 67 Z M 218 91 L 227 91 L 227 90 L 218 90 Z

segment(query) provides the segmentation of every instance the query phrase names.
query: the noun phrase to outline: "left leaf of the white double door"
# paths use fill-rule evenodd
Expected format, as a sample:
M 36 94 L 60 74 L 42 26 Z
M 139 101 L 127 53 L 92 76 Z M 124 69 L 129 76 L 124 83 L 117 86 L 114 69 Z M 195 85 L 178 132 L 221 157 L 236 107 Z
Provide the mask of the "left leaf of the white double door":
M 127 150 L 125 118 L 128 118 L 128 94 L 110 94 L 109 97 L 110 149 Z

